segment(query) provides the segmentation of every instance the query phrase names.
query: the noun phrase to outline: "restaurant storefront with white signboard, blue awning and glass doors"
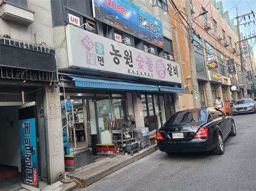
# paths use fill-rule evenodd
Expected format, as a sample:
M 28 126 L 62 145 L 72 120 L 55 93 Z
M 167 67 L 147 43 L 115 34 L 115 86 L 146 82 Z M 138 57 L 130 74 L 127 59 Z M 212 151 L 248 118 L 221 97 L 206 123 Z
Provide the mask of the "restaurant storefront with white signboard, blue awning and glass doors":
M 176 111 L 183 92 L 178 63 L 71 25 L 66 41 L 59 84 L 65 154 L 87 151 L 91 136 L 115 152 L 123 140 L 114 132 L 157 130 Z

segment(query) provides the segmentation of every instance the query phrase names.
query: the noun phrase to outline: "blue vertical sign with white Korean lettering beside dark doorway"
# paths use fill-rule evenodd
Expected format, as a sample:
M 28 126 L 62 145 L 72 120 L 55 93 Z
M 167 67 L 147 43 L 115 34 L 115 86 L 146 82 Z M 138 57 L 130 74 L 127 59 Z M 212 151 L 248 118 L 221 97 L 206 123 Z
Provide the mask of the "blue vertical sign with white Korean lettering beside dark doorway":
M 35 102 L 19 107 L 22 187 L 39 190 Z

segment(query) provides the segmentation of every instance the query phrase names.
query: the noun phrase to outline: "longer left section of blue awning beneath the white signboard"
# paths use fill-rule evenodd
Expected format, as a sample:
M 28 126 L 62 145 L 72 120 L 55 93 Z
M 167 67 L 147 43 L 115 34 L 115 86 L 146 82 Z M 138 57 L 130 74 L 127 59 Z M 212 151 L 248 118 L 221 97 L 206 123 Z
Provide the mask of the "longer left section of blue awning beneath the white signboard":
M 138 90 L 138 91 L 159 91 L 158 86 L 154 86 L 150 84 L 93 79 L 89 77 L 77 77 L 77 76 L 69 76 L 69 77 L 71 77 L 73 81 L 75 81 L 76 87 Z

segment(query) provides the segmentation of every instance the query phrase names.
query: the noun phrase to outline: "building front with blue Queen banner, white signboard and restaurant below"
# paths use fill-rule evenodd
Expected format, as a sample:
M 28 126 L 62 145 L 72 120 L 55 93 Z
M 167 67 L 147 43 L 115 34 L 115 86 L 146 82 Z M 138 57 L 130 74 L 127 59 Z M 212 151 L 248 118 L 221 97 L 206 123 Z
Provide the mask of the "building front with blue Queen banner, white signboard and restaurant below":
M 182 79 L 172 61 L 167 2 L 51 3 L 63 126 L 76 118 L 68 126 L 85 134 L 78 141 L 69 130 L 74 139 L 67 153 L 90 147 L 90 135 L 118 147 L 111 128 L 134 121 L 156 130 L 179 110 Z

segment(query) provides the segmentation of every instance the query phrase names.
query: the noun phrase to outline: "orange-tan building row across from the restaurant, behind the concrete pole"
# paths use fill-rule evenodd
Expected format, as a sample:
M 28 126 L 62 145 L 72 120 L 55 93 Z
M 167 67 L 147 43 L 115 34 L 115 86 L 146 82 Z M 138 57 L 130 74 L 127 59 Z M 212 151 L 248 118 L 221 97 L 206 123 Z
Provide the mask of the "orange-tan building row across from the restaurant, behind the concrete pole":
M 183 63 L 181 66 L 184 74 L 185 93 L 191 94 L 191 68 L 186 22 L 174 9 L 176 5 L 180 13 L 186 18 L 186 1 L 172 2 L 174 5 L 170 3 L 172 9 L 170 20 L 172 26 L 177 30 L 180 62 Z M 229 19 L 228 12 L 223 12 L 221 2 L 206 1 L 200 4 L 197 1 L 190 1 L 190 4 L 194 62 L 197 70 L 201 107 L 214 106 L 215 100 L 220 97 L 224 101 L 224 107 L 229 108 L 232 101 L 245 97 L 239 44 L 237 43 L 238 36 L 233 29 L 233 22 Z M 202 12 L 206 13 L 199 16 Z M 177 53 L 177 47 L 174 47 L 174 53 L 175 51 Z M 247 78 L 246 81 L 248 83 Z M 232 86 L 237 87 L 237 90 L 232 91 Z M 247 88 L 246 93 L 248 92 L 248 96 L 253 96 L 250 83 L 247 87 L 249 88 Z M 192 96 L 190 100 L 193 101 Z

